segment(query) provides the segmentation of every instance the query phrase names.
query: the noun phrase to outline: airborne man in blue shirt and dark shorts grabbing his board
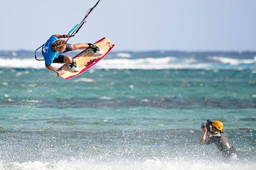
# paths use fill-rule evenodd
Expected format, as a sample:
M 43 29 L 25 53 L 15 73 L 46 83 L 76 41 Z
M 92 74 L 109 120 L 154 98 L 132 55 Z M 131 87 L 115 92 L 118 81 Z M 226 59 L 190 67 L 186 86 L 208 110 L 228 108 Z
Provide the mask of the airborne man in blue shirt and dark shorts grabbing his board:
M 77 67 L 76 62 L 70 57 L 70 56 L 64 56 L 60 53 L 66 53 L 68 51 L 73 51 L 77 49 L 86 49 L 88 48 L 91 50 L 91 52 L 95 55 L 102 55 L 103 51 L 91 44 L 67 44 L 65 40 L 58 40 L 60 38 L 68 38 L 70 37 L 70 34 L 68 35 L 52 35 L 44 44 L 42 49 L 42 54 L 45 59 L 45 67 L 49 69 L 50 71 L 53 71 L 57 73 L 58 76 L 63 75 L 61 72 L 55 70 L 51 63 L 68 63 L 68 68 L 71 71 L 79 71 L 79 68 Z

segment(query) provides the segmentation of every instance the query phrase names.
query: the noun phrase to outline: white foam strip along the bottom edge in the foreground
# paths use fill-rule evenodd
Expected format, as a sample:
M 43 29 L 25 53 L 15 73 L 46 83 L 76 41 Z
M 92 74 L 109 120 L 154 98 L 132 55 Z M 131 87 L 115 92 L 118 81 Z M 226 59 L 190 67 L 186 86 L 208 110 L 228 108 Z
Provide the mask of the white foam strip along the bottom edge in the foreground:
M 165 161 L 165 160 L 159 160 L 157 158 L 152 158 L 145 160 L 144 162 L 138 162 L 138 161 L 117 161 L 117 162 L 106 162 L 106 163 L 98 163 L 91 161 L 59 161 L 55 163 L 49 163 L 49 162 L 9 162 L 9 163 L 0 163 L 1 169 L 88 169 L 88 170 L 94 170 L 94 169 L 100 169 L 100 170 L 111 170 L 111 169 L 145 169 L 145 170 L 163 170 L 163 169 L 208 169 L 208 170 L 216 170 L 216 169 L 234 169 L 234 170 L 244 170 L 244 169 L 254 169 L 255 163 L 240 163 L 240 164 L 226 164 L 226 163 L 215 163 L 212 162 L 206 162 L 206 161 L 187 161 L 187 160 L 171 160 L 171 161 Z

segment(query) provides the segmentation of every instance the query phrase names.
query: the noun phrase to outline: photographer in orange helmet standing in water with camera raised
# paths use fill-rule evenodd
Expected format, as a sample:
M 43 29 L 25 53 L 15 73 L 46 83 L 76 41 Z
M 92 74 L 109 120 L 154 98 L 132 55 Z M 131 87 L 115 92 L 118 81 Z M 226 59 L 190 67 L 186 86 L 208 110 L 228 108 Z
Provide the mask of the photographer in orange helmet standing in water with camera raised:
M 222 131 L 223 124 L 220 121 L 207 120 L 206 124 L 202 124 L 201 129 L 204 132 L 200 141 L 201 145 L 215 143 L 227 161 L 239 161 L 236 149 L 232 146 L 228 135 Z

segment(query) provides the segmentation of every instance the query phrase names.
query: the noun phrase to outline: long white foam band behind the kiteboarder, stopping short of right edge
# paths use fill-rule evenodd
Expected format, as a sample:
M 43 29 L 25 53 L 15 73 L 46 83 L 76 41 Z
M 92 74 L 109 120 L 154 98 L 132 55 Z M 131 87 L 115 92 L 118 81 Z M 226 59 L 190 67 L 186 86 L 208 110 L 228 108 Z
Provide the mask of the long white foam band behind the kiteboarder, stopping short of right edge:
M 162 58 L 141 58 L 141 59 L 103 59 L 99 61 L 93 68 L 94 69 L 142 69 L 142 70 L 162 70 L 162 69 L 202 69 L 208 68 L 211 64 L 207 63 L 174 63 L 175 57 L 167 56 Z M 193 60 L 194 61 L 194 60 Z M 52 67 L 59 68 L 63 64 L 53 63 Z M 0 67 L 7 68 L 35 68 L 35 69 L 46 69 L 44 61 L 37 61 L 35 59 L 5 59 L 0 58 Z M 87 79 L 78 79 L 74 81 L 88 81 Z M 90 82 L 90 80 L 89 80 Z

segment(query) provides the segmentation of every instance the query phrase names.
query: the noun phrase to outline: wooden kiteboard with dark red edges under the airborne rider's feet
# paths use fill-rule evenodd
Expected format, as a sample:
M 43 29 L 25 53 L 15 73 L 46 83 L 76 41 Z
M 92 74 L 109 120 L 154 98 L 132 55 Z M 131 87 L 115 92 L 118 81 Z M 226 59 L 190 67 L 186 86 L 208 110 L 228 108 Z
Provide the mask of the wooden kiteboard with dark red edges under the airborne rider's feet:
M 68 64 L 64 64 L 61 66 L 58 71 L 62 72 L 62 76 L 64 79 L 70 79 L 72 77 L 75 77 L 89 68 L 91 68 L 94 64 L 96 64 L 98 61 L 100 61 L 103 57 L 105 57 L 109 51 L 115 46 L 110 40 L 107 38 L 101 38 L 99 41 L 94 43 L 97 47 L 101 48 L 103 51 L 103 54 L 98 56 L 95 54 L 92 54 L 92 52 L 89 49 L 83 50 L 81 53 L 73 57 L 73 59 L 76 61 L 77 66 L 79 67 L 78 72 L 70 71 L 68 69 Z

